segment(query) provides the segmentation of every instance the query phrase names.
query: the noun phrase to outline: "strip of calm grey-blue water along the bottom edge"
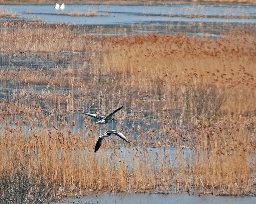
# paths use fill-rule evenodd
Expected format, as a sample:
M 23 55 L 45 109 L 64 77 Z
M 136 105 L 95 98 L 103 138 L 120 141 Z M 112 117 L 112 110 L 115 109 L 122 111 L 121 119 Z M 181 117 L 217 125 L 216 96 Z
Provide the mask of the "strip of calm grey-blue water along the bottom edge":
M 253 204 L 256 202 L 256 197 L 237 197 L 237 196 L 194 196 L 188 194 L 148 194 L 148 193 L 136 193 L 136 194 L 122 194 L 122 193 L 110 193 L 101 194 L 97 197 L 96 194 L 83 196 L 81 198 L 69 198 L 61 203 L 99 203 L 99 204 Z M 55 202 L 55 204 L 60 202 Z

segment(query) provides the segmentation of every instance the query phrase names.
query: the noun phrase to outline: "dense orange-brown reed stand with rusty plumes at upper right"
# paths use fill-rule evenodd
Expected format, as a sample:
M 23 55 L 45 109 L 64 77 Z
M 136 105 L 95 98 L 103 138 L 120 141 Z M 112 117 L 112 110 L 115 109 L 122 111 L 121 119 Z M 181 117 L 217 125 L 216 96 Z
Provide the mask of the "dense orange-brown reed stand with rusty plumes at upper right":
M 216 39 L 156 34 L 113 37 L 103 46 L 102 73 L 116 75 L 139 92 L 155 91 L 160 98 L 173 96 L 176 86 L 182 93 L 210 84 L 228 98 L 222 111 L 254 114 L 255 34 L 236 30 L 225 35 Z

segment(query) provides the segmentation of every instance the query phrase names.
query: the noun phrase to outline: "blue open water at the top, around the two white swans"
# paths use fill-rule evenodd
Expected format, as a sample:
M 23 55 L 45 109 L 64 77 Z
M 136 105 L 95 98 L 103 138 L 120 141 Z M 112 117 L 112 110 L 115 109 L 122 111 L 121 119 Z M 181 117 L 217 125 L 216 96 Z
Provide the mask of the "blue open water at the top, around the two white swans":
M 19 18 L 39 19 L 47 23 L 71 23 L 82 26 L 120 26 L 125 34 L 136 32 L 178 33 L 216 36 L 222 28 L 256 25 L 253 4 L 171 4 L 171 5 L 4 5 L 0 10 L 16 12 Z M 72 12 L 96 11 L 98 16 L 67 16 Z M 65 14 L 65 15 L 63 15 Z M 118 35 L 119 31 L 96 34 Z

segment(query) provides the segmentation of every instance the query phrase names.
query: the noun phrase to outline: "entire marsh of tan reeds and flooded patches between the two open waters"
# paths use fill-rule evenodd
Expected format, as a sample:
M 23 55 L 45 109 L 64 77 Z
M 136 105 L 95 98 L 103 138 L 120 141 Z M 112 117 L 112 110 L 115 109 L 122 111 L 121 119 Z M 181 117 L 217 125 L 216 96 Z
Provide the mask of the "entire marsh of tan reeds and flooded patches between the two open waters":
M 88 191 L 256 195 L 254 31 L 106 37 L 90 34 L 97 27 L 1 27 L 1 86 L 18 84 L 1 92 L 0 180 L 40 178 L 30 179 L 37 187 L 25 199 Z M 46 66 L 17 68 L 15 59 Z M 113 137 L 94 154 L 106 126 L 83 116 L 80 128 L 77 113 L 94 107 L 106 115 L 122 104 L 116 127 L 131 144 Z M 12 194 L 6 186 L 0 202 Z

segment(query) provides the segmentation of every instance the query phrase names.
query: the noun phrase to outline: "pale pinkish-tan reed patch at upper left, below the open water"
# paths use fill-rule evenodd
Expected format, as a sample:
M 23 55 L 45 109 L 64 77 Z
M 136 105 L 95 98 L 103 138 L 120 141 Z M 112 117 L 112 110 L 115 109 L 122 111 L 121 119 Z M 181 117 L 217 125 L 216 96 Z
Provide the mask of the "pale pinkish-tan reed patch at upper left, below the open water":
M 3 21 L 1 27 L 6 28 L 1 31 L 1 51 L 12 53 L 85 52 L 98 47 L 94 39 L 100 38 L 87 33 L 86 27 L 72 25 Z

